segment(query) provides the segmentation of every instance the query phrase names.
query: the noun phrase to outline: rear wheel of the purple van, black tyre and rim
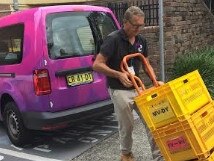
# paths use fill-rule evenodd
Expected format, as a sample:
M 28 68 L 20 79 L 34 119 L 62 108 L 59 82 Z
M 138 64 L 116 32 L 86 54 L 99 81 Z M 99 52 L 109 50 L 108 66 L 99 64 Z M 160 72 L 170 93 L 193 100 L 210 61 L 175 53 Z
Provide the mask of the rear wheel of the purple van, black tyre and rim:
M 4 124 L 8 137 L 14 145 L 23 146 L 28 142 L 29 131 L 25 128 L 21 113 L 14 102 L 5 105 Z

